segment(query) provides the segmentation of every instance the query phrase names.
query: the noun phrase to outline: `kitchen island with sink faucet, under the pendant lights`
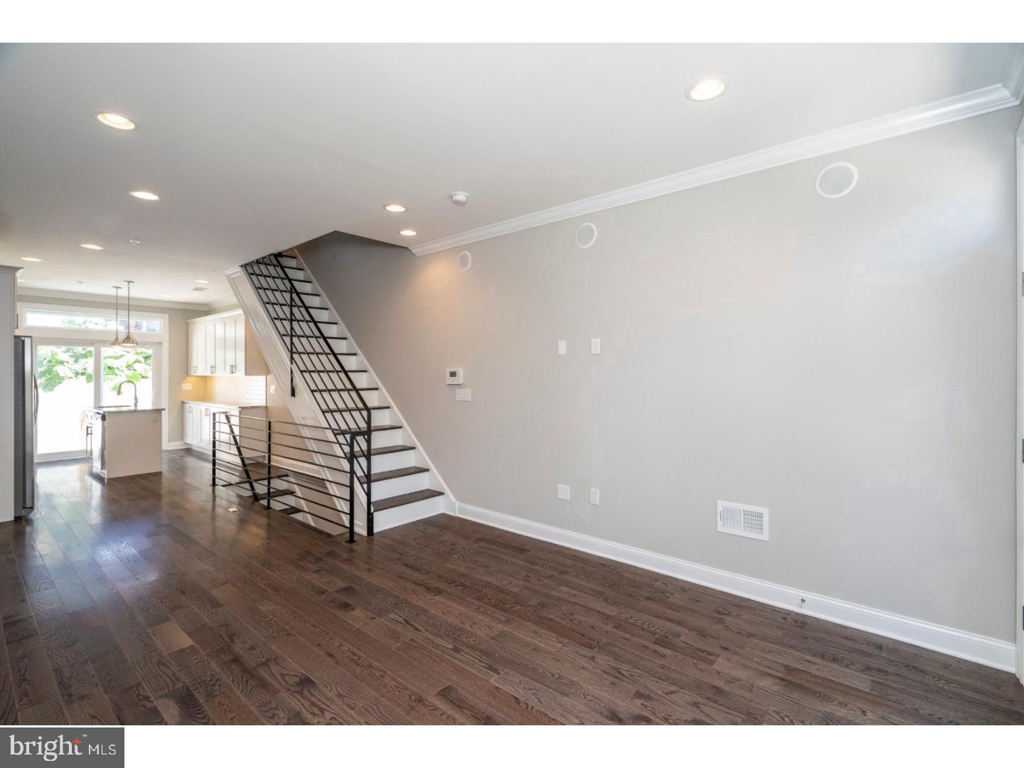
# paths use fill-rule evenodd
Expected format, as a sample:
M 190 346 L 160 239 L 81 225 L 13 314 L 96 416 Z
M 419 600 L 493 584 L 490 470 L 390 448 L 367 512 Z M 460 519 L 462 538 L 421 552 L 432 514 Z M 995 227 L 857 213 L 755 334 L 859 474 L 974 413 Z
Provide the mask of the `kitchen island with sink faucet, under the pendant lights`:
M 93 470 L 108 479 L 160 472 L 163 411 L 131 406 L 87 409 Z

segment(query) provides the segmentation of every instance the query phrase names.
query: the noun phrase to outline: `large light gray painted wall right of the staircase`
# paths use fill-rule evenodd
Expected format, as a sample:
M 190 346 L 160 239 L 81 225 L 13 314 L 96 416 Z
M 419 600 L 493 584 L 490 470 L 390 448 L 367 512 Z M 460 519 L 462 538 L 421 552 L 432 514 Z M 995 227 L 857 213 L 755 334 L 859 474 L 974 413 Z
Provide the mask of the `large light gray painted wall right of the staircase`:
M 299 251 L 460 502 L 1012 641 L 1020 119 L 598 213 L 589 250 L 582 219 L 476 243 L 465 273 Z M 860 182 L 824 200 L 835 160 Z M 771 541 L 718 534 L 720 499 Z

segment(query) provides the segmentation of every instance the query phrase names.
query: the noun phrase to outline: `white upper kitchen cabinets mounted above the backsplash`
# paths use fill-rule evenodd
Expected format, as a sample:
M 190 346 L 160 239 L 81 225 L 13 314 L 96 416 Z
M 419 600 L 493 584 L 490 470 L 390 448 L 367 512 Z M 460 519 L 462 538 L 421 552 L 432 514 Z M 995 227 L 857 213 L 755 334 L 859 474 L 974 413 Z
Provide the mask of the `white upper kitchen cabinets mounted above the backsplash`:
M 266 376 L 241 309 L 188 321 L 189 376 Z

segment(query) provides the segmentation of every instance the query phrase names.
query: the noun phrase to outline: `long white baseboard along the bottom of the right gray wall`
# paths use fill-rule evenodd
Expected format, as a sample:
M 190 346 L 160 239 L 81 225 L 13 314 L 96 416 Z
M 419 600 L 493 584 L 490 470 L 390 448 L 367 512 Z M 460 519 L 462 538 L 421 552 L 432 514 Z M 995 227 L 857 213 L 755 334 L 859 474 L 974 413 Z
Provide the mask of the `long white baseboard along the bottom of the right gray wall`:
M 779 584 L 763 582 L 760 579 L 712 568 L 668 555 L 659 555 L 625 544 L 616 544 L 585 534 L 556 528 L 521 517 L 493 512 L 470 504 L 460 503 L 457 506 L 456 514 L 485 525 L 493 525 L 496 528 L 522 534 L 532 539 L 540 539 L 581 552 L 589 552 L 592 555 L 629 563 L 758 602 L 799 611 L 895 640 L 902 640 L 923 648 L 948 653 L 951 656 L 977 662 L 1007 672 L 1014 671 L 1017 647 L 1014 643 L 1005 640 L 996 640 L 951 627 L 922 622 L 898 613 L 870 608 L 866 605 L 817 595 L 813 592 L 803 592 L 792 587 L 783 587 Z M 801 600 L 806 602 L 801 604 Z

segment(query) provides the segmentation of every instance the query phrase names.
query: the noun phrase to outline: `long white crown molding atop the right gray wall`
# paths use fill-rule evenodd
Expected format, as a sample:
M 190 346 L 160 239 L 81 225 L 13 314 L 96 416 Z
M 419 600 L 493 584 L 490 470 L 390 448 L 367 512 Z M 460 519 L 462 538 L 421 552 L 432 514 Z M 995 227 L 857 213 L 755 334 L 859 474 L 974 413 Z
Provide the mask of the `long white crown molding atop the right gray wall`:
M 713 184 L 716 181 L 775 168 L 799 160 L 816 158 L 820 155 L 860 146 L 872 141 L 901 136 L 904 133 L 934 128 L 956 120 L 977 117 L 1008 106 L 1016 106 L 1020 100 L 1020 97 L 1013 95 L 1006 86 L 990 85 L 976 91 L 962 93 L 958 96 L 950 96 L 902 112 L 894 112 L 891 115 L 817 133 L 766 150 L 758 150 L 748 155 L 692 168 L 671 176 L 644 181 L 633 186 L 585 198 L 574 203 L 566 203 L 525 216 L 517 216 L 495 224 L 452 234 L 447 238 L 421 243 L 412 246 L 410 250 L 417 256 L 446 251 L 450 248 L 458 248 L 481 240 L 489 240 L 502 234 L 510 234 L 522 229 L 530 229 L 535 226 L 563 221 L 574 216 L 585 216 L 631 203 L 639 203 L 643 200 L 671 195 L 703 184 Z

